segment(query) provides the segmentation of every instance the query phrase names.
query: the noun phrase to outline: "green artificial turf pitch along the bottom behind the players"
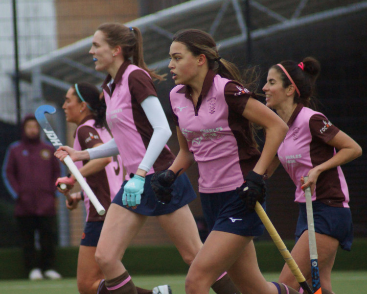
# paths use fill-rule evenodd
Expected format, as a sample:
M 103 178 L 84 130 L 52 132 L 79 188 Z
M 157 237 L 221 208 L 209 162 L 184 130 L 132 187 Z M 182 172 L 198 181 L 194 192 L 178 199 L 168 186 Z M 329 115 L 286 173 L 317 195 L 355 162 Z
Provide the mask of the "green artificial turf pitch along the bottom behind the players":
M 267 281 L 276 281 L 279 273 L 265 272 Z M 134 283 L 145 289 L 169 284 L 172 294 L 185 294 L 184 275 L 134 276 Z M 335 294 L 367 294 L 367 271 L 333 271 L 332 285 Z M 0 280 L 0 294 L 78 294 L 76 279 L 58 281 Z M 214 294 L 211 290 L 210 294 Z

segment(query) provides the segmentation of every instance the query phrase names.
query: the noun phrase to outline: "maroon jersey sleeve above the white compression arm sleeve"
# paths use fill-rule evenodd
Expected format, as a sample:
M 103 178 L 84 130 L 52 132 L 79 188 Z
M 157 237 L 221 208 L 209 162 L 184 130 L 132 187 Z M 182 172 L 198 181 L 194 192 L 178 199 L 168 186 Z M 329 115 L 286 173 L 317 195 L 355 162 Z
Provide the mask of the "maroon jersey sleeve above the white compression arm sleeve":
M 152 79 L 142 70 L 136 70 L 130 73 L 129 90 L 131 96 L 137 99 L 139 104 L 149 96 L 158 97 Z

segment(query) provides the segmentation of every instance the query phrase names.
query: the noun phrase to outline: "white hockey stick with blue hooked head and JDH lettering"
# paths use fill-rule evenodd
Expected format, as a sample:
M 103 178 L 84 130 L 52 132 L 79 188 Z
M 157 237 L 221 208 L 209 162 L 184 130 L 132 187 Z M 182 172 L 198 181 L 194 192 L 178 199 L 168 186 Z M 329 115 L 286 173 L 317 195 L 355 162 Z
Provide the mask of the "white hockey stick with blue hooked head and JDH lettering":
M 59 146 L 62 146 L 59 138 L 53 131 L 51 125 L 48 123 L 45 113 L 53 114 L 56 112 L 55 107 L 51 105 L 41 105 L 36 109 L 35 117 L 37 122 L 40 124 L 41 128 L 46 133 L 48 140 L 52 143 L 53 147 L 57 149 Z M 79 172 L 78 168 L 72 161 L 71 157 L 68 155 L 64 158 L 64 163 L 69 168 L 70 172 L 75 176 L 75 179 L 78 181 L 84 192 L 87 194 L 89 199 L 91 200 L 95 210 L 98 212 L 99 215 L 104 215 L 106 210 L 104 207 L 99 203 L 97 197 L 94 195 L 91 187 L 87 184 L 82 174 Z

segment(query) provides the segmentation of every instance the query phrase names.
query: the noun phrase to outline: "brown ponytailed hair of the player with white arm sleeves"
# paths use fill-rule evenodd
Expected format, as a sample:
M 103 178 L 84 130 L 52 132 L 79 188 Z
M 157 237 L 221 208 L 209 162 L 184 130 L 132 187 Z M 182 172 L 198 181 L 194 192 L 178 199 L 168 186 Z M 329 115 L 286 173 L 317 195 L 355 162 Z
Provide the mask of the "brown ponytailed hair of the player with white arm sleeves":
M 122 49 L 122 56 L 125 60 L 132 59 L 133 64 L 145 70 L 153 79 L 163 80 L 166 74 L 158 74 L 154 70 L 148 69 L 143 57 L 143 38 L 140 30 L 135 27 L 127 27 L 126 25 L 118 23 L 105 23 L 98 26 L 105 34 L 107 44 L 114 48 L 120 46 Z

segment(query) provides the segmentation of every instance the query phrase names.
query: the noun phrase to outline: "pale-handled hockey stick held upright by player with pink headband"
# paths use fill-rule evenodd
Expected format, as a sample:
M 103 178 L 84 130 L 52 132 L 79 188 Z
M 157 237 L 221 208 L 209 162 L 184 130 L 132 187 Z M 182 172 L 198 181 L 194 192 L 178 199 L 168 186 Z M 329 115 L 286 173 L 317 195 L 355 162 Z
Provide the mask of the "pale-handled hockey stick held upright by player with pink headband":
M 308 176 L 303 177 L 304 182 L 307 182 Z M 312 195 L 311 188 L 304 189 L 306 196 L 306 213 L 307 213 L 307 226 L 308 226 L 308 245 L 310 247 L 310 260 L 311 260 L 311 277 L 312 287 L 315 294 L 321 294 L 321 283 L 319 273 L 319 262 L 316 246 L 315 224 L 314 224 L 314 212 L 312 209 Z

